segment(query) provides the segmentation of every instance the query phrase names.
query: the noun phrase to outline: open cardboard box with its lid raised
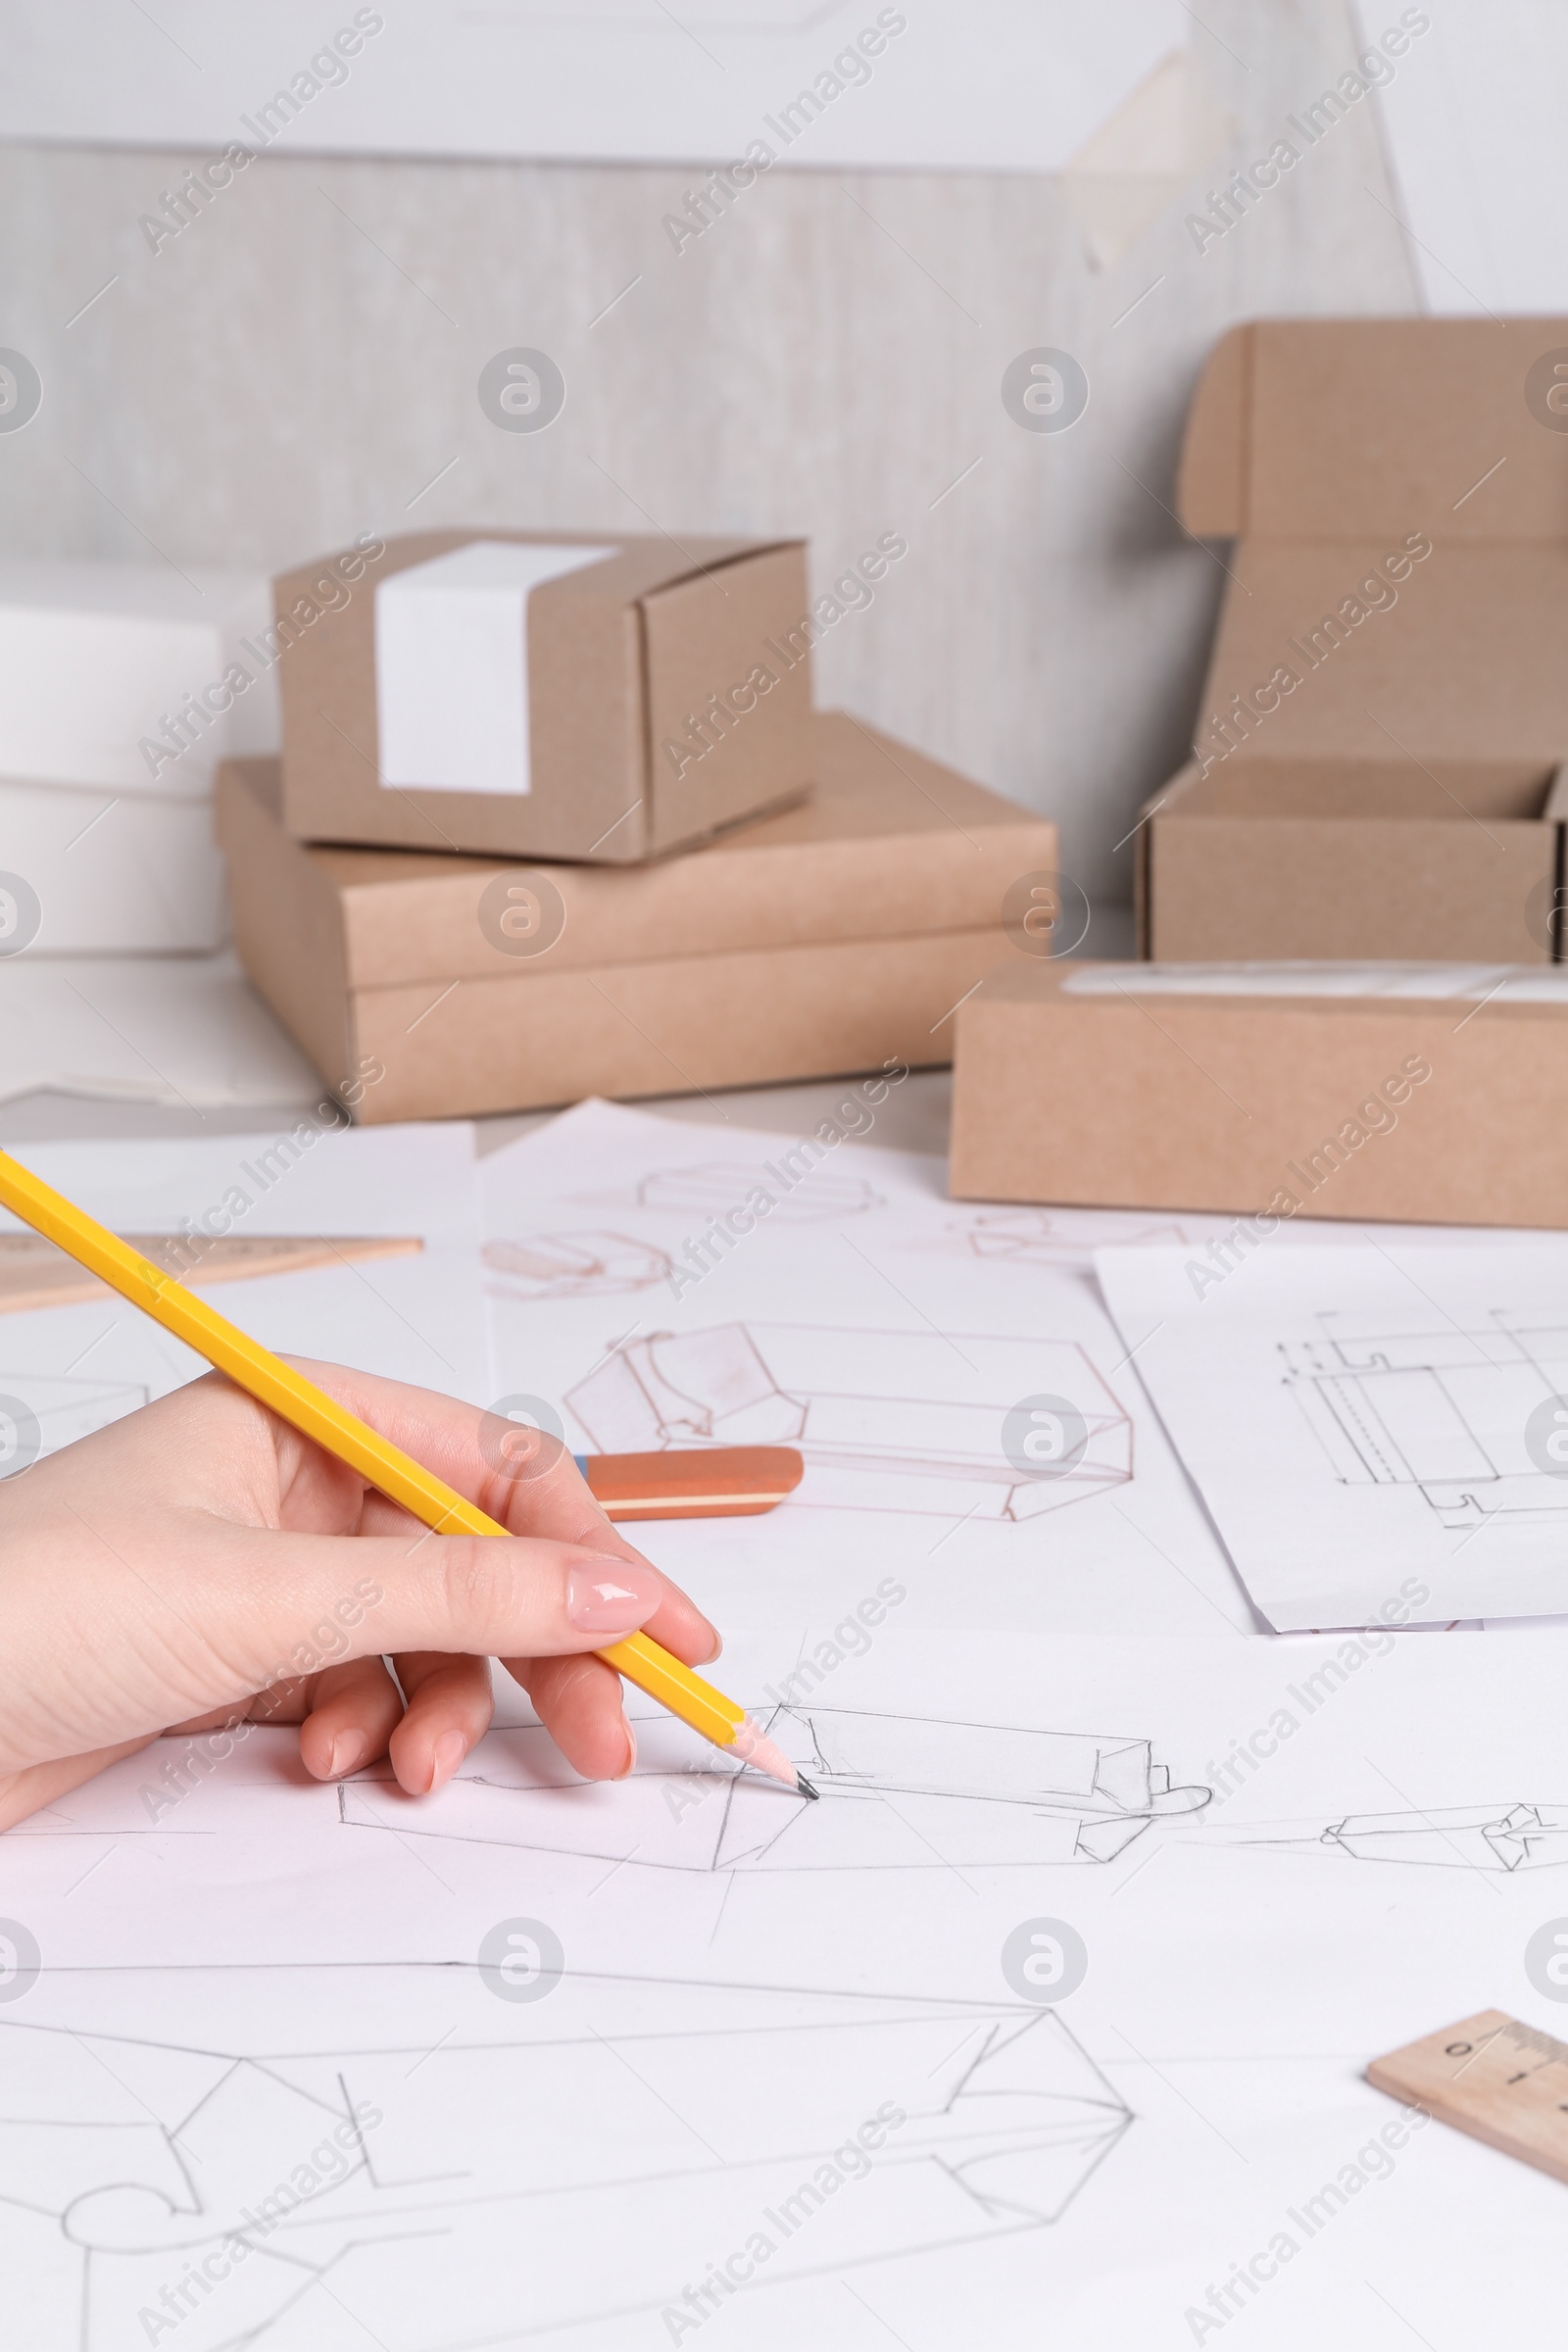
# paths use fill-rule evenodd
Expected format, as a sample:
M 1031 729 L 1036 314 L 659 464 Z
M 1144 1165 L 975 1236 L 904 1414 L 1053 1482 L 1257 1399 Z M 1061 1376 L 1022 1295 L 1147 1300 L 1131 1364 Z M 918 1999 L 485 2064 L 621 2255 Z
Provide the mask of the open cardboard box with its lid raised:
M 1237 546 L 1194 762 L 1140 833 L 1145 955 L 1554 960 L 1559 358 L 1552 318 L 1262 320 L 1215 348 L 1178 506 Z

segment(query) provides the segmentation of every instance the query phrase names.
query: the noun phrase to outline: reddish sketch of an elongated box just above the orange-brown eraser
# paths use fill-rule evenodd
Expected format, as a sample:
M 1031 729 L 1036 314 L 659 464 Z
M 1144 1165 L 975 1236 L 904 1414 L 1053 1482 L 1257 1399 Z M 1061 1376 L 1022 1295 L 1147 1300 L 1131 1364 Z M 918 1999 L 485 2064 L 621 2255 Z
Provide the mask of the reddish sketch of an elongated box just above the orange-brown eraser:
M 1084 1421 L 1084 1451 L 1058 1477 L 1001 1449 L 1030 1395 L 1065 1397 Z M 799 1446 L 792 1505 L 1032 1519 L 1133 1475 L 1131 1416 L 1074 1341 L 708 1324 L 611 1345 L 567 1404 L 602 1454 Z

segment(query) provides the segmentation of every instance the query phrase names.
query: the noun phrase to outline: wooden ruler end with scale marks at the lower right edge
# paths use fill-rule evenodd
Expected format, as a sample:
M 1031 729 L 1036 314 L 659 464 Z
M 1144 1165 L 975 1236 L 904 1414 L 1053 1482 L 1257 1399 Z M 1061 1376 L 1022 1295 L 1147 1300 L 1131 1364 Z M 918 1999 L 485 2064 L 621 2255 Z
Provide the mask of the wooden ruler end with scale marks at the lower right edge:
M 1373 2058 L 1378 2091 L 1425 2107 L 1439 2124 L 1568 2180 L 1568 2044 L 1500 2009 Z

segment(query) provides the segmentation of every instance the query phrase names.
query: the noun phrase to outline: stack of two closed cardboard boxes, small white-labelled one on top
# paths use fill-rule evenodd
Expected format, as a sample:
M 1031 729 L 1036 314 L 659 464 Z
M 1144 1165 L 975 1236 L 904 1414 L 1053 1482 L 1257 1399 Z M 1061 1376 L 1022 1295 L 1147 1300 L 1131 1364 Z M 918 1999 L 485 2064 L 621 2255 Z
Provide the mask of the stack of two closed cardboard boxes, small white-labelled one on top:
M 282 762 L 219 779 L 244 969 L 357 1117 L 950 1058 L 1056 828 L 811 710 L 799 543 L 360 555 L 277 583 Z

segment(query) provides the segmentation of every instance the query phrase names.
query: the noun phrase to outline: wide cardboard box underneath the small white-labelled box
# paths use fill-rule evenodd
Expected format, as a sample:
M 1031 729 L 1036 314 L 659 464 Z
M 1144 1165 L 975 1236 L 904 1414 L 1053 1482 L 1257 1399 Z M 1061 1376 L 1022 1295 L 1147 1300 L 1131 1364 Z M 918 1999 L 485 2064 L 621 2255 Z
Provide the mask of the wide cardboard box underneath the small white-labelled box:
M 219 771 L 240 960 L 362 1120 L 531 1110 L 950 1058 L 1056 826 L 844 715 L 799 807 L 635 873 L 289 840 Z

